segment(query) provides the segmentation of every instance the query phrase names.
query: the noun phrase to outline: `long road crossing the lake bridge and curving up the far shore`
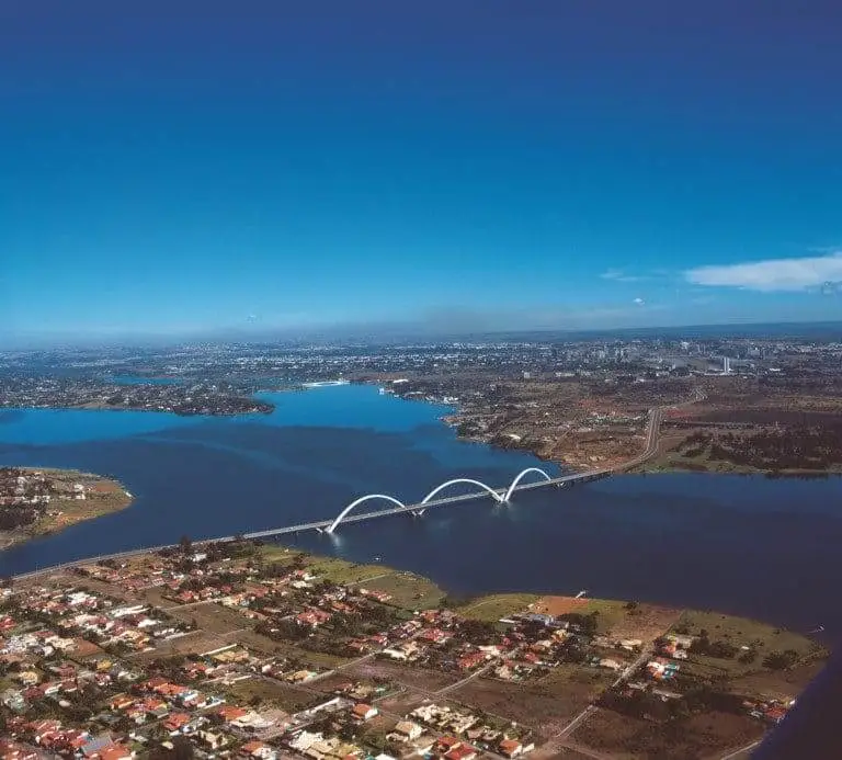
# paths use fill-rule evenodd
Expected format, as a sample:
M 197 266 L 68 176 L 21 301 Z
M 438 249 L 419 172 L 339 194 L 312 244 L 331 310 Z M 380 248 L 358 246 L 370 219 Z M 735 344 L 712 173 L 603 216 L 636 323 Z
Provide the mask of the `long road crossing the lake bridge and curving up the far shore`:
M 400 507 L 397 507 L 397 506 L 389 507 L 386 509 L 373 510 L 368 512 L 357 512 L 357 513 L 348 513 L 348 514 L 343 512 L 340 514 L 341 523 L 344 524 L 344 523 L 366 522 L 369 520 L 387 518 L 396 514 L 411 514 L 414 517 L 420 517 L 426 510 L 430 510 L 430 509 L 437 509 L 440 507 L 452 507 L 454 504 L 459 504 L 467 501 L 476 501 L 477 499 L 487 499 L 490 497 L 493 497 L 497 502 L 503 503 L 504 497 L 507 495 L 510 495 L 511 492 L 527 491 L 535 488 L 547 488 L 547 487 L 565 488 L 565 487 L 574 486 L 577 484 L 590 483 L 592 480 L 599 480 L 601 478 L 608 477 L 615 472 L 623 472 L 625 469 L 630 469 L 633 467 L 636 467 L 642 464 L 644 462 L 646 462 L 648 458 L 652 457 L 657 453 L 658 440 L 659 440 L 658 432 L 660 430 L 660 426 L 663 420 L 663 415 L 667 409 L 675 409 L 681 406 L 695 404 L 696 401 L 702 400 L 702 398 L 704 398 L 704 396 L 701 393 L 696 393 L 694 394 L 693 398 L 686 401 L 685 404 L 671 405 L 669 407 L 656 407 L 653 409 L 650 409 L 649 423 L 647 426 L 647 432 L 646 432 L 646 447 L 638 456 L 632 460 L 628 460 L 626 462 L 623 462 L 622 464 L 616 465 L 614 467 L 604 468 L 604 469 L 594 469 L 587 473 L 573 473 L 571 475 L 562 475 L 556 478 L 549 477 L 543 470 L 539 470 L 536 468 L 528 468 L 527 470 L 520 473 L 512 481 L 512 485 L 510 485 L 508 488 L 496 488 L 496 489 L 488 488 L 488 490 L 481 490 L 479 492 L 473 491 L 470 494 L 460 494 L 458 496 L 430 499 L 429 501 L 423 500 L 412 504 L 401 504 Z M 523 477 L 525 473 L 533 469 L 541 473 L 545 479 L 539 480 L 537 483 L 521 484 L 520 478 Z M 365 497 L 365 498 L 374 498 L 374 496 Z M 389 499 L 395 503 L 400 503 L 391 499 L 391 497 L 382 497 L 382 498 Z M 251 532 L 242 533 L 239 535 L 226 535 L 226 536 L 218 536 L 215 538 L 202 538 L 198 541 L 194 541 L 193 543 L 195 546 L 200 546 L 202 544 L 209 544 L 209 543 L 216 543 L 216 542 L 230 542 L 238 538 L 247 538 L 247 540 L 272 538 L 274 536 L 303 533 L 305 531 L 332 532 L 332 530 L 335 528 L 337 528 L 337 519 L 334 518 L 332 520 L 315 520 L 312 522 L 299 523 L 297 525 L 284 525 L 281 528 L 270 528 L 268 530 L 251 531 Z M 80 563 L 102 562 L 104 559 L 121 559 L 124 557 L 130 557 L 138 554 L 144 554 L 144 553 L 155 553 L 166 548 L 173 548 L 177 545 L 178 544 L 164 544 L 161 546 L 150 546 L 141 549 L 129 549 L 127 552 L 104 554 L 95 557 L 89 557 L 86 559 L 76 559 L 73 562 L 62 563 L 60 565 L 54 565 L 52 567 L 39 568 L 31 572 L 24 572 L 15 576 L 15 578 L 23 579 L 23 578 L 31 578 L 31 577 L 44 575 L 47 572 L 55 572 L 57 570 L 61 570 L 68 567 L 73 567 L 75 565 L 78 565 Z

